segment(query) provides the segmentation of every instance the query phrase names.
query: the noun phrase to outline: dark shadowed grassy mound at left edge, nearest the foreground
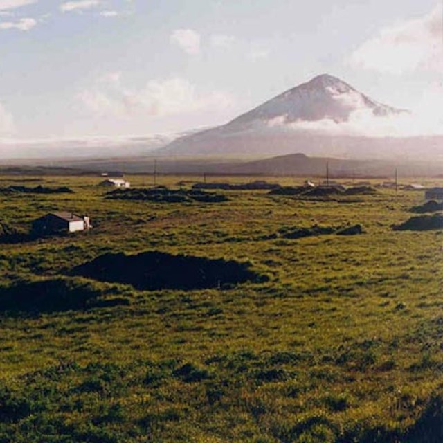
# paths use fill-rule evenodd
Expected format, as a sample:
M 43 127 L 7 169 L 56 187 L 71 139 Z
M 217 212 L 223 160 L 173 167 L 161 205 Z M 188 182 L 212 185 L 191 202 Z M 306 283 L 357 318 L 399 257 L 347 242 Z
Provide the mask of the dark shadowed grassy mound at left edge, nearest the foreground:
M 62 312 L 112 305 L 112 300 L 100 300 L 101 291 L 89 282 L 56 278 L 34 282 L 18 282 L 12 287 L 0 287 L 2 312 Z M 116 304 L 128 304 L 116 299 Z

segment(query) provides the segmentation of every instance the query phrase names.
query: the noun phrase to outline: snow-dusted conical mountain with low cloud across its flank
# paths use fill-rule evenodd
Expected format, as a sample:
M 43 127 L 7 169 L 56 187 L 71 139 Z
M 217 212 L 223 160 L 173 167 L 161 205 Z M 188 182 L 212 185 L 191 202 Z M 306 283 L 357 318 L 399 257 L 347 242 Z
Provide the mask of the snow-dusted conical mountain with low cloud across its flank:
M 319 75 L 226 125 L 177 138 L 159 154 L 281 155 L 394 158 L 442 155 L 442 136 L 383 138 L 346 132 L 356 118 L 396 118 L 408 111 L 382 105 L 332 75 Z M 360 123 L 360 122 L 359 122 Z M 344 129 L 343 129 L 344 128 Z M 329 130 L 328 130 L 329 129 Z

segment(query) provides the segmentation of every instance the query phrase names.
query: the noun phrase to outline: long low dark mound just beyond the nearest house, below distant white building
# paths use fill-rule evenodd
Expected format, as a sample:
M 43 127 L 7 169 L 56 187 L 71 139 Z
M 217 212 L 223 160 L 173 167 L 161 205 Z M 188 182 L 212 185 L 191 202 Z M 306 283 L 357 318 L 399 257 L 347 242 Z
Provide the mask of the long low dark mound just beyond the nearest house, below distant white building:
M 225 195 L 203 190 L 171 190 L 168 188 L 132 188 L 116 189 L 107 192 L 107 199 L 156 201 L 159 203 L 183 203 L 199 201 L 201 203 L 220 203 L 228 201 Z

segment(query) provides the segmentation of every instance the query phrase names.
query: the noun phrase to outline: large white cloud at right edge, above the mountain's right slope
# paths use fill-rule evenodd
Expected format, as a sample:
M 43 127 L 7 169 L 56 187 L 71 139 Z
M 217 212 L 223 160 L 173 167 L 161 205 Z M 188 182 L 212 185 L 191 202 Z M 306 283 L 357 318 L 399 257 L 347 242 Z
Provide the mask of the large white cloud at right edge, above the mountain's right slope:
M 443 71 L 443 7 L 417 19 L 400 21 L 354 51 L 351 66 L 401 74 Z

